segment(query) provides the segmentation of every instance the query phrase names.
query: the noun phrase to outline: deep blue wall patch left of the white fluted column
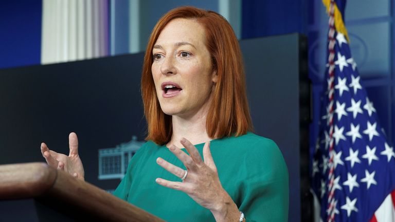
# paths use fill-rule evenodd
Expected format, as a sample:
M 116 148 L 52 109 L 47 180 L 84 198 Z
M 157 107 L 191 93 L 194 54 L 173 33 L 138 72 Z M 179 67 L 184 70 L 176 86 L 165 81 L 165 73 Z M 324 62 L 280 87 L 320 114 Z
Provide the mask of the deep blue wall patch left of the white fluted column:
M 0 68 L 40 64 L 42 0 L 0 3 Z

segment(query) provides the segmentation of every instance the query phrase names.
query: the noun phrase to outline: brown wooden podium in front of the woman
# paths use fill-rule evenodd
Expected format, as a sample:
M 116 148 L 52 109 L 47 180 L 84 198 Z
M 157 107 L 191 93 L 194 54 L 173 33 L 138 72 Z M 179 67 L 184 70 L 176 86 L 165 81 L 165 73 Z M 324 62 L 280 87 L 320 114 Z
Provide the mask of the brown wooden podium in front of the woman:
M 164 221 L 46 163 L 0 165 L 0 202 L 17 199 L 34 202 L 38 221 Z

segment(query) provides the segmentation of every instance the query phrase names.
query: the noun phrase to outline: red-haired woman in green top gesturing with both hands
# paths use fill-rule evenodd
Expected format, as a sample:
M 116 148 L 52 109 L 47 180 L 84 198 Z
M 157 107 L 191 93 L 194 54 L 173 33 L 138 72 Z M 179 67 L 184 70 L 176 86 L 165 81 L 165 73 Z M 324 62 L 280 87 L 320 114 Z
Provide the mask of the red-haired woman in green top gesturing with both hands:
M 241 51 L 221 15 L 181 7 L 161 17 L 141 93 L 147 142 L 114 195 L 169 221 L 287 220 L 288 170 L 272 140 L 250 133 Z M 68 157 L 44 143 L 41 152 L 83 179 L 74 133 L 69 143 Z

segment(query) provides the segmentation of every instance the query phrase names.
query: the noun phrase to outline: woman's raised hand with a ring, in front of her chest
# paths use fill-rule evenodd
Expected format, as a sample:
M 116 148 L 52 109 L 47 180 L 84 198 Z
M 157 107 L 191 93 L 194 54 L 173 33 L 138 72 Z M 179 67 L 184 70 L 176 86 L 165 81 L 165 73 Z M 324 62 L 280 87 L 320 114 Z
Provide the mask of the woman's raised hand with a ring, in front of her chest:
M 190 156 L 175 145 L 171 145 L 169 150 L 184 163 L 188 170 L 186 178 L 182 182 L 157 178 L 156 182 L 161 186 L 183 191 L 197 204 L 209 209 L 213 214 L 226 211 L 226 205 L 235 205 L 228 193 L 222 188 L 216 164 L 214 164 L 211 156 L 210 142 L 206 142 L 203 147 L 204 161 L 196 147 L 187 139 L 183 138 L 181 144 L 184 145 Z M 185 175 L 184 169 L 176 167 L 160 157 L 156 159 L 156 162 L 179 178 L 183 178 Z

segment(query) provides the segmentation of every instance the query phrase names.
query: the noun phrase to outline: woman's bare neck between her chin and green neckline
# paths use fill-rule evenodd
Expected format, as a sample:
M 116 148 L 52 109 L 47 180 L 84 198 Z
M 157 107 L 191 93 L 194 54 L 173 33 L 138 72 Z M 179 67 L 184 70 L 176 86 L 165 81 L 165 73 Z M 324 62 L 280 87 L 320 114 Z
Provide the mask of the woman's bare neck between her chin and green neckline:
M 172 116 L 173 135 L 167 146 L 175 145 L 179 148 L 184 147 L 179 141 L 182 138 L 189 140 L 192 144 L 204 143 L 212 140 L 207 134 L 206 120 L 208 107 L 202 109 L 193 116 L 180 117 Z

